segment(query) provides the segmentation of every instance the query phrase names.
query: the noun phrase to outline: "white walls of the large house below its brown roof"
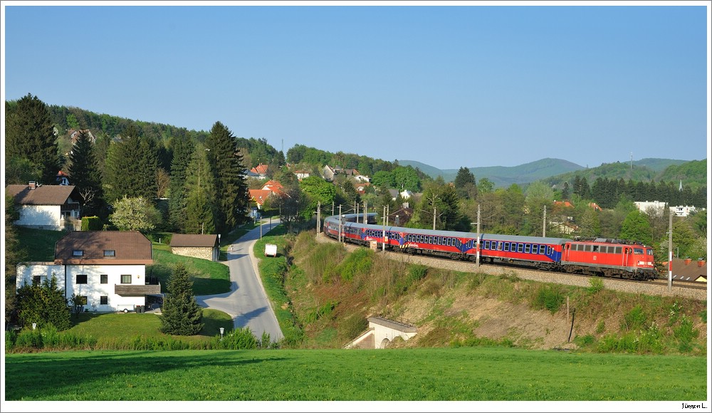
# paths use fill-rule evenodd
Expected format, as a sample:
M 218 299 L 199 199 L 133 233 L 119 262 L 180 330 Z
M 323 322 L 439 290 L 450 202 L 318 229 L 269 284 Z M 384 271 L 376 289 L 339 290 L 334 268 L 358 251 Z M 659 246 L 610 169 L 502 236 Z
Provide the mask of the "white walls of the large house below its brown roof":
M 66 272 L 65 272 L 66 271 Z M 101 312 L 120 311 L 124 308 L 134 309 L 134 305 L 145 305 L 146 298 L 140 296 L 120 296 L 114 293 L 114 286 L 121 284 L 122 274 L 131 276 L 130 284 L 124 286 L 143 286 L 146 283 L 146 266 L 144 265 L 118 265 L 118 266 L 80 266 L 80 265 L 54 265 L 51 263 L 25 263 L 17 266 L 16 286 L 20 288 L 24 283 L 30 285 L 33 276 L 46 276 L 51 278 L 52 273 L 57 276 L 58 286 L 65 291 L 65 297 L 71 298 L 72 294 L 87 297 L 85 308 L 96 309 Z M 77 284 L 77 275 L 86 274 L 87 283 Z M 107 283 L 101 283 L 101 274 L 108 276 Z M 66 282 L 66 288 L 65 288 Z M 100 305 L 101 296 L 107 296 L 108 304 Z M 92 303 L 96 306 L 93 307 Z

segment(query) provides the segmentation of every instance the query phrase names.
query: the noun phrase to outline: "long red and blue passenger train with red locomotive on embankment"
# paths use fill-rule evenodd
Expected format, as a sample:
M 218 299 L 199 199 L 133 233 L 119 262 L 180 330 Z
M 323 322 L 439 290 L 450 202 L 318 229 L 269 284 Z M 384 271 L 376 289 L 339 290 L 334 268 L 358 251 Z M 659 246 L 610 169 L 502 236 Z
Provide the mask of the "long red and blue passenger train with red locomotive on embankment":
M 658 278 L 653 249 L 639 242 L 414 229 L 379 225 L 376 217 L 329 216 L 323 231 L 339 241 L 409 254 L 639 281 Z

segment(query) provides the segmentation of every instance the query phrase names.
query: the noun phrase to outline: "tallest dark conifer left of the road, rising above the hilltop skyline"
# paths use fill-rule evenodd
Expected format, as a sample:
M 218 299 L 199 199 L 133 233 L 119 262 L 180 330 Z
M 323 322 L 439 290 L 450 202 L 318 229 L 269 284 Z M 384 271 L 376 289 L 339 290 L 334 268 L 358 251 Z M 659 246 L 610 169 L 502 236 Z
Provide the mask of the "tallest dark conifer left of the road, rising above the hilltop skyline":
M 249 192 L 242 156 L 237 151 L 236 138 L 221 122 L 215 122 L 205 144 L 215 178 L 216 229 L 230 231 L 247 219 Z

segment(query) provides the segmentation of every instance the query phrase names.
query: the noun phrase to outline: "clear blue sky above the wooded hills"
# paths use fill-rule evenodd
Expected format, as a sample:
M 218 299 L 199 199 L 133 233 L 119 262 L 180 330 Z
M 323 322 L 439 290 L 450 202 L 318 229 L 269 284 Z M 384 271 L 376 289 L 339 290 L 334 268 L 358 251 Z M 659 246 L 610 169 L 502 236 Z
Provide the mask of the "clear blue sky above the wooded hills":
M 708 2 L 27 3 L 3 4 L 5 100 L 441 169 L 708 152 Z

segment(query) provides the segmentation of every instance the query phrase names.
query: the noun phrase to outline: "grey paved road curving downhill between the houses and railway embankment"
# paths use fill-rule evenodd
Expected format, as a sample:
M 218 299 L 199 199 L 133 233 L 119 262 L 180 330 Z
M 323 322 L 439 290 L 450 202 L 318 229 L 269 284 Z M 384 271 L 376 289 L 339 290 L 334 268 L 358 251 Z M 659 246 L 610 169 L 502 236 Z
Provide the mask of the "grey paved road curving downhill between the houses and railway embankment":
M 280 223 L 272 219 L 272 227 Z M 260 234 L 267 234 L 269 223 L 263 223 L 237 239 L 228 247 L 227 265 L 230 268 L 230 292 L 214 296 L 196 296 L 195 299 L 203 308 L 212 308 L 228 313 L 234 320 L 234 327 L 248 327 L 252 333 L 261 338 L 262 333 L 270 335 L 272 341 L 281 340 L 284 335 L 279 328 L 277 318 L 267 299 L 261 278 L 258 277 L 258 259 L 251 253 Z M 260 228 L 262 233 L 260 233 Z

